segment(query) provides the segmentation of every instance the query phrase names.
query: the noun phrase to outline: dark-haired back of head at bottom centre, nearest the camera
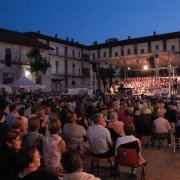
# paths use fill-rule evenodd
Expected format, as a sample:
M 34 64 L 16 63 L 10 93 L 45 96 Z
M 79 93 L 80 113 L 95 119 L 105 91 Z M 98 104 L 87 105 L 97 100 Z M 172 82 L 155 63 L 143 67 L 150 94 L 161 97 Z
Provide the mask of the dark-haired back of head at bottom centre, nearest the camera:
M 83 168 L 80 153 L 72 149 L 62 154 L 61 164 L 66 173 L 81 172 Z

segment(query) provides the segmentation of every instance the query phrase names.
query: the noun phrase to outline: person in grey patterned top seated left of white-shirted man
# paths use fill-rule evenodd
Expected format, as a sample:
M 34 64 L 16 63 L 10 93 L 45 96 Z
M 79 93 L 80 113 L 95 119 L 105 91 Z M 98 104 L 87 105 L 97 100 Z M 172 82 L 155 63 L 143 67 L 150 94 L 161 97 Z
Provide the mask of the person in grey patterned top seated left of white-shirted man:
M 63 126 L 62 134 L 66 142 L 67 148 L 79 149 L 84 144 L 86 138 L 86 130 L 83 126 L 76 124 L 76 113 L 70 113 L 69 122 Z

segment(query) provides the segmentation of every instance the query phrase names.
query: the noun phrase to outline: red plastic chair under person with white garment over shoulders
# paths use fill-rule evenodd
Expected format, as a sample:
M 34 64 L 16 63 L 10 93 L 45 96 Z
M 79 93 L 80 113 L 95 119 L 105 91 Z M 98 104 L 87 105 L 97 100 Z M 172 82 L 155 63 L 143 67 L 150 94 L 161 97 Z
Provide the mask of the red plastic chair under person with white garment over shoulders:
M 115 167 L 119 171 L 120 166 L 126 166 L 131 168 L 142 167 L 141 179 L 145 179 L 144 166 L 146 161 L 140 160 L 135 149 L 117 148 L 117 154 L 115 156 Z M 116 171 L 117 172 L 117 171 Z M 119 172 L 118 172 L 119 173 Z M 120 174 L 120 173 L 119 173 Z

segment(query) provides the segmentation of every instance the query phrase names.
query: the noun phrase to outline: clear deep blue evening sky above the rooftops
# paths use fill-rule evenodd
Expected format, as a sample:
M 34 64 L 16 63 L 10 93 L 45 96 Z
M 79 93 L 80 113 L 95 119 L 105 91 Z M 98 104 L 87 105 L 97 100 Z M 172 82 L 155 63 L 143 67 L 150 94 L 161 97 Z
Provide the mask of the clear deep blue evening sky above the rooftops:
M 82 44 L 180 31 L 180 0 L 1 0 L 0 28 Z

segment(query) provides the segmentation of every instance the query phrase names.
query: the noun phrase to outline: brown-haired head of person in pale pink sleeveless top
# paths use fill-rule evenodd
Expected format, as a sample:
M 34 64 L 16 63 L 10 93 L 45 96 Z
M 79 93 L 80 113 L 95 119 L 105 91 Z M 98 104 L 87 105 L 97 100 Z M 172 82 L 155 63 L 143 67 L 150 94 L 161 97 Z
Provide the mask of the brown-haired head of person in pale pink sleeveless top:
M 50 134 L 56 134 L 60 131 L 61 129 L 61 122 L 59 119 L 55 118 L 55 119 L 51 119 L 49 121 L 49 124 L 48 124 L 48 129 L 49 129 L 49 132 Z

